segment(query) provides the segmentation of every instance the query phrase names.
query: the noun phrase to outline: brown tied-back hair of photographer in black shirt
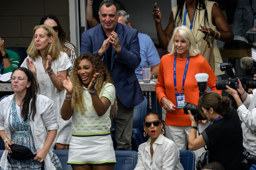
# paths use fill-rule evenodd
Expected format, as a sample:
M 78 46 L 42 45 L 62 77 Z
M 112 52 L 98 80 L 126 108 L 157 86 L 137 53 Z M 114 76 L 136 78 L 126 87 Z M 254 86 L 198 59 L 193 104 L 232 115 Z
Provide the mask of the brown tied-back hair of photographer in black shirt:
M 217 92 L 207 92 L 198 100 L 198 112 L 206 118 L 203 113 L 202 107 L 206 110 L 212 108 L 216 113 L 221 116 L 229 116 L 231 113 L 231 100 L 227 96 L 221 96 Z

